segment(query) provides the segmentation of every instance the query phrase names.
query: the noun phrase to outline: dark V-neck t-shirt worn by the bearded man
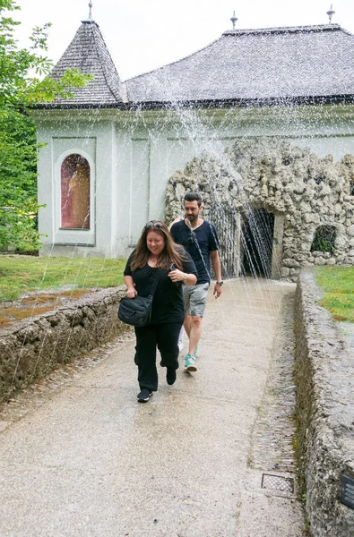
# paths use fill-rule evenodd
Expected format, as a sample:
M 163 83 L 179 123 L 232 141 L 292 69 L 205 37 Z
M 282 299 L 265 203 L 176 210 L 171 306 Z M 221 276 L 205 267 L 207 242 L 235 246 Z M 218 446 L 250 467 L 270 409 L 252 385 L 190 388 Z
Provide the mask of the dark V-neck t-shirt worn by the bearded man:
M 176 222 L 170 234 L 177 244 L 182 246 L 194 260 L 198 271 L 197 284 L 209 284 L 211 281 L 211 258 L 210 252 L 220 249 L 220 242 L 215 226 L 206 220 L 202 226 L 196 227 L 193 231 L 186 225 L 185 220 Z

